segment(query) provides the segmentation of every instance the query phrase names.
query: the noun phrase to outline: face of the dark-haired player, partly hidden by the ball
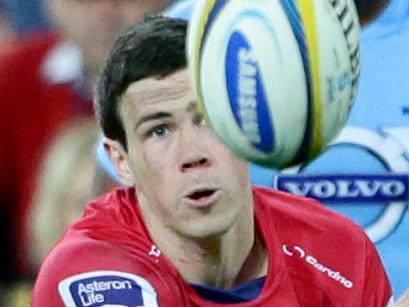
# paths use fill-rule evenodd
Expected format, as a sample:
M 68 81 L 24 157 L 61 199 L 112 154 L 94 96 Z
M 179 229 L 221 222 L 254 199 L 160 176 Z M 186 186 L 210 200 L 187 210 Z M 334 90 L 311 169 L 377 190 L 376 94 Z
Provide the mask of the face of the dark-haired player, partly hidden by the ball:
M 247 164 L 197 113 L 187 71 L 131 84 L 119 114 L 145 218 L 195 238 L 227 231 L 251 202 Z

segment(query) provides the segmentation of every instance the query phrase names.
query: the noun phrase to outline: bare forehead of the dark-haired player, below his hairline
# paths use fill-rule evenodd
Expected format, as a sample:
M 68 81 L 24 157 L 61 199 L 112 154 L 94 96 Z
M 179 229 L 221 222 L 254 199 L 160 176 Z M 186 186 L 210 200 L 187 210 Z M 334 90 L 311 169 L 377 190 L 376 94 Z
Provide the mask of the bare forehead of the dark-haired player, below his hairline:
M 194 100 L 187 70 L 176 72 L 162 79 L 148 78 L 131 83 L 121 99 L 121 108 L 138 113 L 176 102 Z

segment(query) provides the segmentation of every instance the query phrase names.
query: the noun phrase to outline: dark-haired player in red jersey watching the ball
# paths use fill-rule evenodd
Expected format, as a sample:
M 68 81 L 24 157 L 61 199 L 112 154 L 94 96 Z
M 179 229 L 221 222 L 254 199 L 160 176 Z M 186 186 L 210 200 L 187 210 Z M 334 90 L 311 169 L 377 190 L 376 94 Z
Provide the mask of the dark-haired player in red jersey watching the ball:
M 152 17 L 116 41 L 96 109 L 130 188 L 68 229 L 33 306 L 386 306 L 389 282 L 358 226 L 251 187 L 195 108 L 185 36 L 186 22 Z

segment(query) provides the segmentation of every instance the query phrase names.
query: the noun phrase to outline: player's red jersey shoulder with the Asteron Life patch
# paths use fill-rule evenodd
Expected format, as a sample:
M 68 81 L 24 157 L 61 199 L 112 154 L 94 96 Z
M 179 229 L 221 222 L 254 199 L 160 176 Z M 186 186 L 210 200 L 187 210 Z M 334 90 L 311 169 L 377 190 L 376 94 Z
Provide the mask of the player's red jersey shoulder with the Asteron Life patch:
M 161 252 L 147 238 L 138 241 L 143 234 L 137 228 L 122 225 L 115 211 L 126 204 L 112 204 L 118 193 L 125 191 L 93 202 L 51 250 L 37 276 L 33 306 L 171 306 L 180 299 L 177 275 Z

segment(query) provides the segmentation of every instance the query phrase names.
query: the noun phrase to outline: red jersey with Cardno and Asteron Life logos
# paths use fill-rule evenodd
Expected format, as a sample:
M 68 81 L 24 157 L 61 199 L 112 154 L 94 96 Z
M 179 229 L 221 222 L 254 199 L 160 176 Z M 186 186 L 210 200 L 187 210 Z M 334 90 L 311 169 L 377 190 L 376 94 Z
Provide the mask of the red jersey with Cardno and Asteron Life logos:
M 259 296 L 233 306 L 387 306 L 392 293 L 361 228 L 314 200 L 253 189 L 269 256 Z M 232 306 L 204 300 L 149 236 L 133 189 L 92 202 L 47 256 L 33 306 Z

